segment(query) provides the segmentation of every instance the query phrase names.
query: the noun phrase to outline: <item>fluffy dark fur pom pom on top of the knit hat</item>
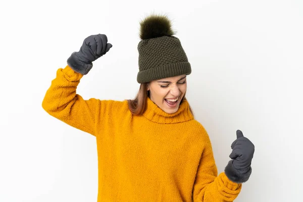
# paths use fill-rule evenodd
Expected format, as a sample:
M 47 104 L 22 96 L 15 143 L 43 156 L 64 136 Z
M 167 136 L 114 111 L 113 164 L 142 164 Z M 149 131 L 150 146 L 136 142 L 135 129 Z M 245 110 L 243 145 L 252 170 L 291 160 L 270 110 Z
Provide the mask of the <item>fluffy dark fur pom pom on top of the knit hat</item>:
M 164 15 L 150 15 L 140 22 L 140 38 L 149 39 L 175 34 L 171 21 Z

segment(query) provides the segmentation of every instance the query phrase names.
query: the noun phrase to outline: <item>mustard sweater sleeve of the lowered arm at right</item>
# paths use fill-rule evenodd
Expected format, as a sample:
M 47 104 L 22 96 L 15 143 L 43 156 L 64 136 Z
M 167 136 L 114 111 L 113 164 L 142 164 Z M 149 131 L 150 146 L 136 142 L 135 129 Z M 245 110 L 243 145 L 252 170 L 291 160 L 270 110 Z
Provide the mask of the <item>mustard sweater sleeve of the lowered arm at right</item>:
M 193 185 L 194 202 L 233 201 L 240 193 L 242 184 L 232 182 L 224 172 L 218 175 L 209 136 L 200 158 Z

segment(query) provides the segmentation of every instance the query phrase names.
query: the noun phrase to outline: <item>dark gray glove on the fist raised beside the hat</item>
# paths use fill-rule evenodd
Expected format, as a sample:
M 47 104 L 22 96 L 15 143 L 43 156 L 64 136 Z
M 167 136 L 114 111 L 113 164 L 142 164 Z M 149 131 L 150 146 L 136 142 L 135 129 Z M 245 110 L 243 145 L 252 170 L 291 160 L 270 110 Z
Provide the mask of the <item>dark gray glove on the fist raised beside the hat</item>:
M 67 64 L 75 72 L 83 75 L 87 74 L 92 68 L 92 62 L 105 55 L 113 46 L 107 43 L 105 34 L 90 35 L 86 37 L 79 52 L 74 52 L 67 59 Z

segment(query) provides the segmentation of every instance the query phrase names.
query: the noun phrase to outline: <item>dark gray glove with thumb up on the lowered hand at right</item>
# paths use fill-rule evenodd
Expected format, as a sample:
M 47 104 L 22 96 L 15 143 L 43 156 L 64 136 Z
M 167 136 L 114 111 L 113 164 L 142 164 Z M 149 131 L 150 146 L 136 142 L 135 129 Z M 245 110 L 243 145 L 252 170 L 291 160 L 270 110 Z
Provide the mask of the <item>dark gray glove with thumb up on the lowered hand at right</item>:
M 237 139 L 231 144 L 232 153 L 225 167 L 226 176 L 233 182 L 246 182 L 251 174 L 251 160 L 254 157 L 255 145 L 237 130 Z

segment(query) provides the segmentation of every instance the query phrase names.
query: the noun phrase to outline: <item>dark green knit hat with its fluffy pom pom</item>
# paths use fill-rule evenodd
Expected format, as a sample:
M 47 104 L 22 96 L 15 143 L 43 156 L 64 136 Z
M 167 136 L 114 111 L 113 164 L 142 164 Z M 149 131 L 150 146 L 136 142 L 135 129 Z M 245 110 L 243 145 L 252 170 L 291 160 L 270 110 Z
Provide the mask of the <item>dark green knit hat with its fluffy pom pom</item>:
M 140 25 L 138 83 L 191 73 L 180 40 L 172 36 L 175 33 L 167 16 L 150 15 Z

